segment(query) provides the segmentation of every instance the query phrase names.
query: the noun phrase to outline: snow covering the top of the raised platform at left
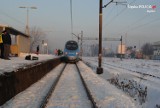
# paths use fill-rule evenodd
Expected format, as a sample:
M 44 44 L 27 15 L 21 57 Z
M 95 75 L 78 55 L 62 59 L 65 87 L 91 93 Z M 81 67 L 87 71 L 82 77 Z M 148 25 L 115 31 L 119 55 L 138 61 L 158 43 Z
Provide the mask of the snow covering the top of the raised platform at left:
M 20 57 L 10 57 L 11 60 L 0 59 L 0 74 L 3 74 L 4 72 L 15 71 L 16 69 L 25 67 L 26 65 L 29 65 L 35 62 L 53 59 L 56 57 L 54 55 L 31 54 L 31 56 L 36 56 L 39 59 L 38 60 L 25 60 L 26 55 L 28 54 L 23 53 L 20 55 Z

